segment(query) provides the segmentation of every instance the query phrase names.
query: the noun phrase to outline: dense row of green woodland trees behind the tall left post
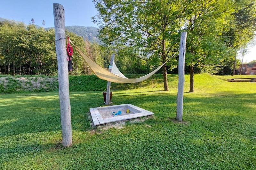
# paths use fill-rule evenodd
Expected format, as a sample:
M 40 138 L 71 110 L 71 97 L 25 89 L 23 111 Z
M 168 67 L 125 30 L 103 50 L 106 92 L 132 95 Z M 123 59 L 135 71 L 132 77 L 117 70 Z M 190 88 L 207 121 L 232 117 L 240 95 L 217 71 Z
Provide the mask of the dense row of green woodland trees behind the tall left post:
M 66 31 L 71 39 L 83 52 L 85 43 L 82 37 Z M 55 33 L 53 29 L 36 28 L 34 24 L 24 26 L 9 22 L 0 25 L 0 66 L 2 73 L 26 75 L 57 75 L 57 60 L 55 53 Z M 97 43 L 87 42 L 92 47 L 91 57 L 100 65 L 104 59 L 101 48 Z M 73 72 L 71 75 L 80 75 L 86 72 L 85 63 L 74 48 Z M 4 70 L 5 69 L 5 70 Z

